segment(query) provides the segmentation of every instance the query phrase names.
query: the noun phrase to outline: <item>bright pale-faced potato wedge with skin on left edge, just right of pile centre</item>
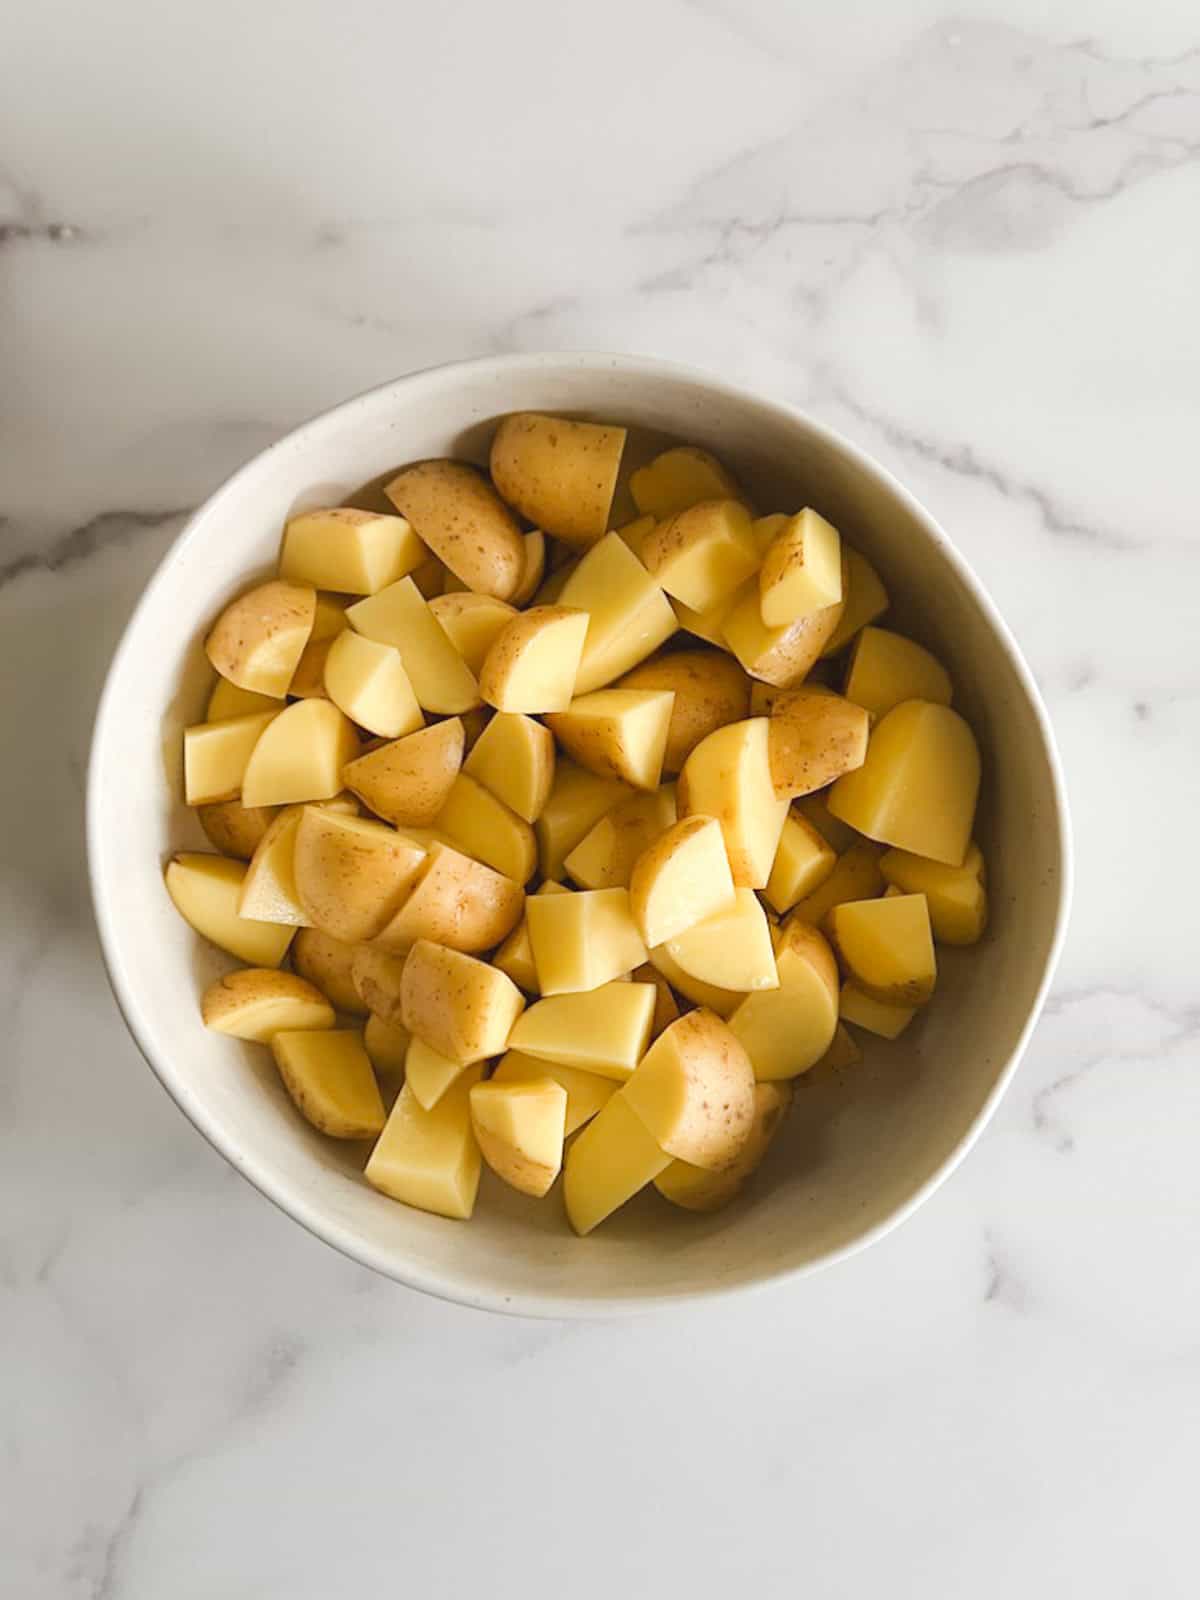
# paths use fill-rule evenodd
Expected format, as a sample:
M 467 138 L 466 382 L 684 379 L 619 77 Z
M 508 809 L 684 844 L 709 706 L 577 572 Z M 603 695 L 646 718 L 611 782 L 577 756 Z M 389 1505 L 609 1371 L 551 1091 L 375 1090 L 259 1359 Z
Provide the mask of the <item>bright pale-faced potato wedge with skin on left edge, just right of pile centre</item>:
M 646 949 L 734 904 L 725 835 L 712 816 L 685 816 L 637 859 L 629 904 Z

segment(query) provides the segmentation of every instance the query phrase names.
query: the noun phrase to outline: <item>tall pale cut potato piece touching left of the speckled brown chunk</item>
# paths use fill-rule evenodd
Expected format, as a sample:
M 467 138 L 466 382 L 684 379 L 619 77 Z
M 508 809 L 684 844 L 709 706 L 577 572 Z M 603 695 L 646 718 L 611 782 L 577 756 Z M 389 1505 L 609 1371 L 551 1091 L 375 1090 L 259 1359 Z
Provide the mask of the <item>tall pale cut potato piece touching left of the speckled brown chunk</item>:
M 766 717 L 731 722 L 701 739 L 683 763 L 680 811 L 717 818 L 739 888 L 766 885 L 787 818 L 787 800 L 771 784 Z

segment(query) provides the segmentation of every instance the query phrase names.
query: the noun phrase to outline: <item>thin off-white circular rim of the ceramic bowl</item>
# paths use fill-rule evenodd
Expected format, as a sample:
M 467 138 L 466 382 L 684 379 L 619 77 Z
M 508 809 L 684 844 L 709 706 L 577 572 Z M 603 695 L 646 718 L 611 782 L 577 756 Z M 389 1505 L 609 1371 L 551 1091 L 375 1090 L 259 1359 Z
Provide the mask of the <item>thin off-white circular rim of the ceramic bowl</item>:
M 1008 1061 L 997 1074 L 997 1078 L 979 1107 L 971 1126 L 966 1130 L 963 1138 L 958 1141 L 955 1149 L 947 1155 L 947 1158 L 938 1166 L 930 1178 L 915 1189 L 907 1200 L 898 1205 L 888 1216 L 882 1218 L 872 1227 L 866 1229 L 856 1238 L 838 1245 L 834 1250 L 826 1251 L 811 1261 L 803 1261 L 790 1266 L 779 1266 L 776 1270 L 765 1270 L 755 1277 L 733 1278 L 725 1283 L 712 1283 L 696 1288 L 685 1288 L 666 1293 L 648 1293 L 648 1294 L 605 1294 L 603 1298 L 582 1298 L 574 1294 L 554 1294 L 546 1291 L 514 1291 L 501 1293 L 491 1290 L 474 1288 L 467 1282 L 454 1278 L 453 1272 L 430 1272 L 421 1267 L 413 1267 L 406 1262 L 395 1262 L 386 1258 L 382 1250 L 371 1245 L 370 1240 L 363 1240 L 352 1234 L 349 1229 L 333 1222 L 325 1213 L 320 1203 L 314 1203 L 306 1195 L 283 1194 L 283 1186 L 277 1184 L 274 1178 L 267 1173 L 256 1171 L 253 1158 L 246 1157 L 245 1152 L 235 1152 L 227 1147 L 219 1131 L 208 1125 L 208 1118 L 203 1115 L 198 1106 L 189 1101 L 186 1086 L 176 1080 L 166 1062 L 158 1062 L 155 1059 L 154 1046 L 149 1042 L 149 1030 L 141 1018 L 141 1005 L 134 986 L 130 982 L 128 974 L 122 960 L 122 934 L 117 926 L 115 904 L 106 891 L 106 885 L 101 882 L 99 874 L 99 854 L 101 854 L 101 798 L 99 798 L 99 782 L 98 773 L 102 760 L 102 750 L 107 742 L 107 731 L 110 723 L 117 717 L 117 698 L 115 683 L 118 678 L 120 667 L 123 664 L 126 651 L 133 648 L 133 638 L 138 632 L 142 616 L 152 610 L 158 587 L 165 581 L 166 571 L 174 565 L 174 562 L 182 554 L 184 547 L 197 536 L 200 523 L 208 517 L 210 510 L 227 498 L 237 496 L 242 480 L 251 477 L 259 462 L 280 448 L 294 448 L 302 438 L 323 427 L 328 421 L 336 416 L 347 418 L 357 410 L 363 410 L 379 403 L 384 397 L 400 394 L 408 387 L 419 386 L 422 382 L 430 382 L 435 378 L 442 378 L 446 382 L 462 382 L 472 374 L 478 378 L 496 378 L 504 374 L 536 374 L 562 371 L 563 368 L 574 368 L 579 371 L 598 371 L 619 368 L 627 371 L 630 378 L 669 378 L 677 382 L 691 384 L 707 390 L 709 394 L 746 405 L 765 406 L 766 410 L 776 411 L 787 422 L 798 424 L 814 435 L 821 443 L 827 445 L 834 451 L 840 451 L 842 456 L 850 461 L 854 469 L 870 478 L 886 490 L 890 494 L 898 498 L 906 509 L 920 522 L 922 528 L 933 538 L 944 560 L 952 566 L 957 578 L 963 582 L 966 590 L 971 594 L 973 600 L 979 606 L 987 626 L 995 634 L 1000 646 L 1003 648 L 1013 672 L 1024 691 L 1024 696 L 1034 712 L 1034 722 L 1037 725 L 1046 765 L 1051 776 L 1053 802 L 1054 802 L 1054 827 L 1058 832 L 1058 854 L 1059 854 L 1059 870 L 1058 870 L 1058 898 L 1054 906 L 1054 926 L 1050 939 L 1050 947 L 1045 958 L 1043 973 L 1034 997 L 1034 1003 L 1029 1008 L 1029 1014 L 1024 1021 L 1021 1034 L 1008 1056 Z M 485 357 L 467 357 L 454 362 L 438 362 L 429 366 L 418 368 L 416 371 L 405 373 L 400 378 L 387 379 L 386 382 L 374 384 L 347 400 L 341 400 L 338 405 L 318 411 L 296 427 L 290 429 L 280 438 L 267 445 L 266 450 L 258 451 L 232 474 L 229 474 L 205 499 L 189 514 L 184 526 L 179 530 L 176 538 L 171 541 L 170 547 L 163 554 L 162 560 L 155 566 L 150 579 L 138 597 L 133 611 L 130 613 L 125 627 L 122 629 L 122 637 L 117 648 L 112 653 L 109 667 L 106 670 L 104 686 L 96 706 L 96 715 L 91 731 L 91 746 L 88 755 L 88 774 L 86 774 L 86 803 L 85 803 L 85 838 L 86 838 L 86 856 L 88 856 L 88 882 L 91 890 L 93 915 L 96 920 L 96 928 L 99 934 L 101 958 L 104 962 L 104 970 L 109 979 L 109 987 L 112 989 L 114 1000 L 117 1002 L 117 1010 L 120 1011 L 130 1035 L 138 1046 L 146 1064 L 154 1072 L 155 1078 L 162 1088 L 171 1096 L 179 1110 L 187 1117 L 192 1126 L 203 1134 L 210 1146 L 218 1150 L 245 1179 L 248 1179 L 259 1194 L 266 1195 L 280 1211 L 299 1222 L 309 1234 L 320 1238 L 323 1243 L 331 1245 L 347 1259 L 370 1267 L 379 1272 L 382 1277 L 392 1278 L 397 1283 L 405 1285 L 411 1290 L 419 1290 L 424 1294 L 432 1294 L 435 1299 L 446 1301 L 450 1304 L 470 1306 L 480 1310 L 494 1310 L 507 1315 L 517 1317 L 539 1317 L 539 1318 L 608 1318 L 622 1317 L 630 1314 L 640 1314 L 648 1310 L 661 1310 L 672 1306 L 694 1304 L 698 1301 L 709 1301 L 718 1298 L 728 1298 L 731 1294 L 744 1294 L 752 1290 L 763 1290 L 771 1285 L 781 1285 L 789 1280 L 798 1280 L 810 1277 L 826 1267 L 835 1266 L 840 1261 L 846 1261 L 850 1256 L 867 1250 L 870 1245 L 877 1243 L 893 1229 L 906 1222 L 920 1205 L 923 1205 L 930 1195 L 934 1194 L 958 1168 L 958 1165 L 966 1158 L 973 1149 L 976 1139 L 981 1136 L 989 1120 L 992 1118 L 995 1107 L 1003 1098 L 1008 1085 L 1011 1083 L 1018 1066 L 1026 1053 L 1030 1035 L 1037 1021 L 1042 1014 L 1042 1008 L 1050 992 L 1050 986 L 1058 968 L 1059 957 L 1062 954 L 1062 946 L 1067 933 L 1067 922 L 1070 915 L 1070 902 L 1074 894 L 1074 842 L 1070 829 L 1070 813 L 1067 806 L 1067 786 L 1066 774 L 1062 770 L 1062 760 L 1059 757 L 1054 733 L 1050 723 L 1050 715 L 1046 712 L 1042 693 L 1037 686 L 1034 674 L 1026 662 L 1013 632 L 1000 614 L 995 602 L 987 592 L 982 581 L 968 565 L 966 558 L 958 552 L 954 541 L 947 536 L 946 530 L 941 526 L 936 517 L 907 490 L 899 478 L 894 477 L 886 467 L 874 459 L 862 446 L 856 445 L 853 440 L 846 438 L 837 429 L 819 421 L 818 418 L 802 411 L 798 406 L 790 405 L 786 400 L 779 400 L 770 395 L 758 394 L 757 390 L 730 382 L 725 378 L 718 378 L 702 368 L 690 366 L 682 362 L 664 360 L 651 355 L 630 355 L 619 352 L 602 352 L 602 350 L 541 350 L 541 352 L 525 352 L 514 355 L 485 355 Z

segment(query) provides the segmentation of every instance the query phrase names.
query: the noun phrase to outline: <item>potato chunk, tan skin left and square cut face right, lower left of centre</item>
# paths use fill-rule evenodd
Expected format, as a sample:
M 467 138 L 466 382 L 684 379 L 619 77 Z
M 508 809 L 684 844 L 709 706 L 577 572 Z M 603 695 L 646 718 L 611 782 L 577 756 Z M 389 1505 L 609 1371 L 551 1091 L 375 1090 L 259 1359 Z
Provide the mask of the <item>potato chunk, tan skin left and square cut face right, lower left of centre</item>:
M 512 979 L 474 955 L 427 939 L 410 950 L 400 1019 L 438 1054 L 467 1062 L 499 1056 L 523 1010 L 525 998 Z

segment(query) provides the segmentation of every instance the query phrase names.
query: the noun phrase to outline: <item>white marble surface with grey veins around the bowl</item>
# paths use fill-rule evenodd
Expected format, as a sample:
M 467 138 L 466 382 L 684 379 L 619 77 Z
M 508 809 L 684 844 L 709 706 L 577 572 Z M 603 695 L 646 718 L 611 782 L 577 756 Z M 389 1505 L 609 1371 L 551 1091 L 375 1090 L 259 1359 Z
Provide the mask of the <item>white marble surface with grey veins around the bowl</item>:
M 48 0 L 0 82 L 0 1589 L 1195 1595 L 1195 8 Z M 618 1325 L 418 1298 L 235 1178 L 115 1014 L 80 830 L 187 509 L 350 392 L 546 347 L 890 464 L 1021 638 L 1078 835 L 955 1178 L 811 1282 Z

